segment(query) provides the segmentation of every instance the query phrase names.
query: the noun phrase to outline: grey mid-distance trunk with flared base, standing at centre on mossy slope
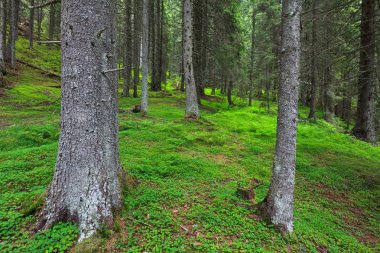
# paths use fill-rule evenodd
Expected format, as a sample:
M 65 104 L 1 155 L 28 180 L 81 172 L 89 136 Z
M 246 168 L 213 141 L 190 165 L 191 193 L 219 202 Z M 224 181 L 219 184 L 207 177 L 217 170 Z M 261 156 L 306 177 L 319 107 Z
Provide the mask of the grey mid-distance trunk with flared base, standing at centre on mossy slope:
M 191 0 L 184 0 L 184 70 L 186 82 L 186 117 L 196 118 L 200 117 L 199 106 L 197 99 L 197 90 L 194 80 L 193 68 L 193 25 L 192 25 L 192 4 Z

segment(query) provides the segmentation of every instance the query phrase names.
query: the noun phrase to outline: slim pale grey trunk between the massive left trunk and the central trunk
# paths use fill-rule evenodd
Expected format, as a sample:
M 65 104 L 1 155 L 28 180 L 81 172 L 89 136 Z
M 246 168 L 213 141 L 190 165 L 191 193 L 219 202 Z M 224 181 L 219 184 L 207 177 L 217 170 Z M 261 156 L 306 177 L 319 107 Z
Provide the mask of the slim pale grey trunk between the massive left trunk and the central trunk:
M 148 76 L 149 76 L 149 0 L 143 0 L 142 25 L 142 95 L 141 112 L 148 113 Z

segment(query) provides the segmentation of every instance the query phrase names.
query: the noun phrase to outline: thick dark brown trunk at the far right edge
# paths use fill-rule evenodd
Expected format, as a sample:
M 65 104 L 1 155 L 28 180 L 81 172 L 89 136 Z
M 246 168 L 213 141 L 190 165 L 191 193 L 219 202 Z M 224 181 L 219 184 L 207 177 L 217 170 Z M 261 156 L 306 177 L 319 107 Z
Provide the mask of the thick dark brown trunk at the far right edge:
M 353 134 L 367 142 L 375 143 L 375 0 L 362 1 L 360 26 L 359 98 Z

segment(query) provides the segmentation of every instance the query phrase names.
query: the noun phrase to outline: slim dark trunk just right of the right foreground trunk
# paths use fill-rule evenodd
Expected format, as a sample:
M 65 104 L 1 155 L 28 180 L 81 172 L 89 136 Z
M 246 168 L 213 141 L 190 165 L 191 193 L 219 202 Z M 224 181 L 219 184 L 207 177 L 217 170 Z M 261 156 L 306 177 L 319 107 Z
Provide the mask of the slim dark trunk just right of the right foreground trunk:
M 309 119 L 316 120 L 316 106 L 317 106 L 317 81 L 316 81 L 316 64 L 315 58 L 316 54 L 316 41 L 317 41 L 317 10 L 316 10 L 317 0 L 313 0 L 312 6 L 312 32 L 311 32 L 311 64 L 310 64 L 310 81 L 311 81 L 311 101 L 310 101 L 310 113 Z

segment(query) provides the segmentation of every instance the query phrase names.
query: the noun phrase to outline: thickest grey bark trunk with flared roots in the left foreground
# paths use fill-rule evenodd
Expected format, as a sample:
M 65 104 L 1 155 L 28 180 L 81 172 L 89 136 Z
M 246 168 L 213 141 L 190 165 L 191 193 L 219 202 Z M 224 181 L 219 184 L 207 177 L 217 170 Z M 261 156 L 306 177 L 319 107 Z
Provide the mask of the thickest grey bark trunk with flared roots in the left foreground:
M 94 15 L 97 13 L 97 15 Z M 61 135 L 40 228 L 78 223 L 79 241 L 121 205 L 113 0 L 62 2 Z

